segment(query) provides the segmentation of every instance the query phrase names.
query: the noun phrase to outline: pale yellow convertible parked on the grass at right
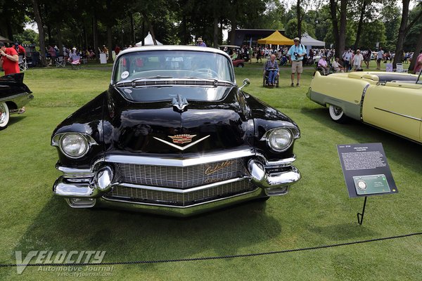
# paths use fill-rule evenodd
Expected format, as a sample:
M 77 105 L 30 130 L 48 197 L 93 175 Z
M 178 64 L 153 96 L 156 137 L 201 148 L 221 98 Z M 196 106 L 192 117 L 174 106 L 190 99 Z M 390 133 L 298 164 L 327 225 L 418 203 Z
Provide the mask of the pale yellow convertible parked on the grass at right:
M 421 74 L 316 72 L 307 97 L 328 107 L 335 122 L 350 117 L 422 143 Z

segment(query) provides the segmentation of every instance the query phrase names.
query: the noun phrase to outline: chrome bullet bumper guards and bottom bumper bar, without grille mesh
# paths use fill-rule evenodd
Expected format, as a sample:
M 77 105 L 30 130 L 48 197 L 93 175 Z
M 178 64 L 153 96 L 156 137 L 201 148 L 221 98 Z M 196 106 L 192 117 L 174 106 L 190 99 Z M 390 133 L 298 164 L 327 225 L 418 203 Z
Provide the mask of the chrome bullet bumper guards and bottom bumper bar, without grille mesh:
M 245 201 L 252 198 L 266 197 L 266 196 L 278 196 L 285 195 L 288 192 L 288 187 L 293 183 L 300 180 L 300 172 L 291 164 L 295 161 L 295 157 L 289 159 L 283 159 L 279 162 L 267 162 L 261 155 L 256 155 L 248 161 L 248 171 L 250 175 L 245 175 L 251 181 L 253 185 L 257 187 L 253 192 L 246 194 L 240 194 L 233 197 L 222 198 L 217 200 L 221 204 L 229 201 Z M 107 164 L 104 162 L 104 164 Z M 53 185 L 53 193 L 60 197 L 65 197 L 70 207 L 74 208 L 89 208 L 94 205 L 110 205 L 117 202 L 107 200 L 106 195 L 110 190 L 113 190 L 113 186 L 121 185 L 122 183 L 113 181 L 114 171 L 110 166 L 102 166 L 98 171 L 94 171 L 94 167 L 91 171 L 87 169 L 68 169 L 62 166 L 57 166 L 59 171 L 63 171 L 63 176 L 60 176 Z M 117 178 L 117 177 L 116 177 Z M 235 180 L 235 179 L 234 179 Z M 214 183 L 213 185 L 219 185 L 222 183 Z M 167 190 L 167 188 L 150 187 L 150 186 L 139 186 L 142 189 L 152 190 Z M 199 186 L 193 189 L 206 190 L 209 186 Z M 187 192 L 188 190 L 186 190 Z M 177 190 L 173 189 L 173 192 Z M 203 202 L 198 205 L 188 207 L 177 207 L 173 206 L 153 206 L 153 204 L 132 204 L 130 202 L 120 203 L 127 204 L 127 206 L 136 205 L 136 209 L 141 208 L 139 205 L 143 205 L 146 209 L 195 209 L 199 205 L 210 204 L 217 205 L 216 200 L 210 200 L 210 202 Z M 212 204 L 211 204 L 212 203 Z M 201 207 L 201 209 L 204 209 Z

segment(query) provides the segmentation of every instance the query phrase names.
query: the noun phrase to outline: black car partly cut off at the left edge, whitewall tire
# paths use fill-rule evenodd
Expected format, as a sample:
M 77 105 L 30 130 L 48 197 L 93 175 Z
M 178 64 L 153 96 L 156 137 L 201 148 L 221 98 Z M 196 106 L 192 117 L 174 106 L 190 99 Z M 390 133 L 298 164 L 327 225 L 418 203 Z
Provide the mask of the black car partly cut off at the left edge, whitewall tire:
M 23 84 L 23 73 L 8 74 L 0 77 L 0 130 L 6 129 L 14 113 L 22 114 L 34 96 Z

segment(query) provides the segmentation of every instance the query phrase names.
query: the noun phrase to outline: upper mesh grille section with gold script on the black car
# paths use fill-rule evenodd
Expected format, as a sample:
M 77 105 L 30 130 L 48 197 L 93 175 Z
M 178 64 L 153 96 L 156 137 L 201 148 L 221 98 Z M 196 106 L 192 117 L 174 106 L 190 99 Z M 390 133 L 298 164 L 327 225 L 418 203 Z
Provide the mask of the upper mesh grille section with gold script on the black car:
M 194 166 L 152 166 L 142 164 L 117 164 L 121 183 L 151 185 L 163 188 L 186 189 L 207 185 L 248 174 L 243 159 Z

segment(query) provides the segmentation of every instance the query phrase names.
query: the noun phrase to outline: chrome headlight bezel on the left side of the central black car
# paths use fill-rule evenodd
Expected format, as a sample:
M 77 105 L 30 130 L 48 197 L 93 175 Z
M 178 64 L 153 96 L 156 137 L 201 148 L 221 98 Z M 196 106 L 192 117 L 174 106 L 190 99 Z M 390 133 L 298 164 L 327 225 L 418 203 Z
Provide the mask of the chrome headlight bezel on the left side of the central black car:
M 77 154 L 72 154 L 70 151 L 64 148 L 63 142 L 68 140 L 68 138 L 79 138 L 80 145 L 83 147 L 82 150 Z M 68 132 L 68 133 L 58 133 L 56 136 L 53 136 L 51 140 L 51 145 L 57 146 L 60 149 L 60 152 L 63 153 L 66 157 L 71 159 L 79 159 L 87 155 L 91 145 L 97 145 L 94 138 L 89 136 L 85 133 L 75 133 L 75 132 Z

